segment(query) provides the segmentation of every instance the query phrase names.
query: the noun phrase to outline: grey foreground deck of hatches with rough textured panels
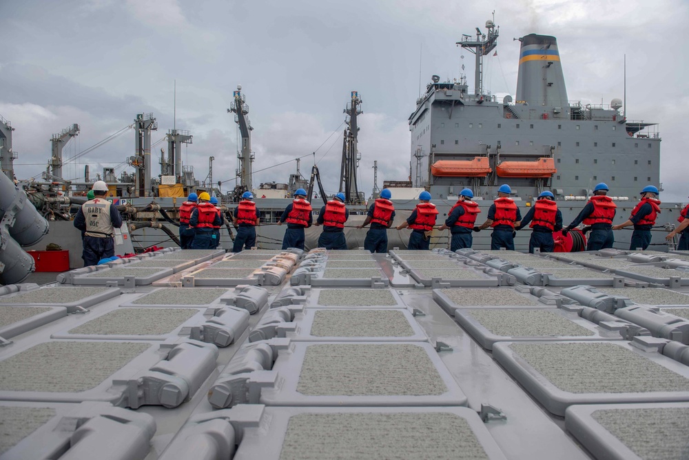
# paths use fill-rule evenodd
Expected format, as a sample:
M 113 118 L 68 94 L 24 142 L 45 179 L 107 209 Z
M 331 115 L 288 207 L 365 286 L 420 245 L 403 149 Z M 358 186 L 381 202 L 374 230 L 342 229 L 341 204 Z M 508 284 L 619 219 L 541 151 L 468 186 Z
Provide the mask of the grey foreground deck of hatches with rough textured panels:
M 167 251 L 3 288 L 0 458 L 679 458 L 689 287 L 651 255 Z

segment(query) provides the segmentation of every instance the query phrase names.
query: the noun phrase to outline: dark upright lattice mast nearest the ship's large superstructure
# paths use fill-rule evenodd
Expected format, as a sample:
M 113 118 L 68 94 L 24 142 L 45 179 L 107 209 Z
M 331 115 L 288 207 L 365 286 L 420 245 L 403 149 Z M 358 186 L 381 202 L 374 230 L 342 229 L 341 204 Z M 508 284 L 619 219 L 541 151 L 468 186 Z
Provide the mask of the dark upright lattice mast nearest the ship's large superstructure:
M 347 104 L 344 112 L 347 114 L 345 121 L 344 138 L 342 139 L 342 164 L 340 166 L 340 191 L 345 193 L 347 204 L 362 204 L 362 197 L 356 183 L 356 173 L 358 171 L 361 154 L 357 149 L 357 116 L 361 111 L 362 100 L 359 98 L 358 91 L 351 92 L 351 101 Z

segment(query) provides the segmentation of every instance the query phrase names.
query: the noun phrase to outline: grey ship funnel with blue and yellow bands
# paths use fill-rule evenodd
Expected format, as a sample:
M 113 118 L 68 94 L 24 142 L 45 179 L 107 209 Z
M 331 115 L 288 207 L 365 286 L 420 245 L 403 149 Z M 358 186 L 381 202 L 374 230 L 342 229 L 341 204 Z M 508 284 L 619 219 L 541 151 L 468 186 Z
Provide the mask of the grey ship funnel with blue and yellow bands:
M 520 41 L 522 49 L 517 76 L 517 103 L 568 108 L 557 39 L 548 35 L 529 34 Z M 566 110 L 562 112 L 566 113 Z

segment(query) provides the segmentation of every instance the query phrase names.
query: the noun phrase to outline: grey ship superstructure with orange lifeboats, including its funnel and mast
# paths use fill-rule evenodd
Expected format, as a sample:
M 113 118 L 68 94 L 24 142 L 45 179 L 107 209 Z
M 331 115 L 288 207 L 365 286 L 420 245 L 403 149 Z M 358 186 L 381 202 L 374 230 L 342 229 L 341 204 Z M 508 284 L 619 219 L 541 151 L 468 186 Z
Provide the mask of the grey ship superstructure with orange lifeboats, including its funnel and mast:
M 563 200 L 584 199 L 597 182 L 621 199 L 659 184 L 657 125 L 629 121 L 621 99 L 569 101 L 555 37 L 520 38 L 515 100 L 499 101 L 482 89 L 480 60 L 497 44 L 493 22 L 486 28 L 457 43 L 478 50 L 475 89 L 464 78 L 441 83 L 433 76 L 409 117 L 413 186 L 440 199 L 464 187 L 493 199 L 497 187 L 509 183 L 523 200 L 545 189 Z

